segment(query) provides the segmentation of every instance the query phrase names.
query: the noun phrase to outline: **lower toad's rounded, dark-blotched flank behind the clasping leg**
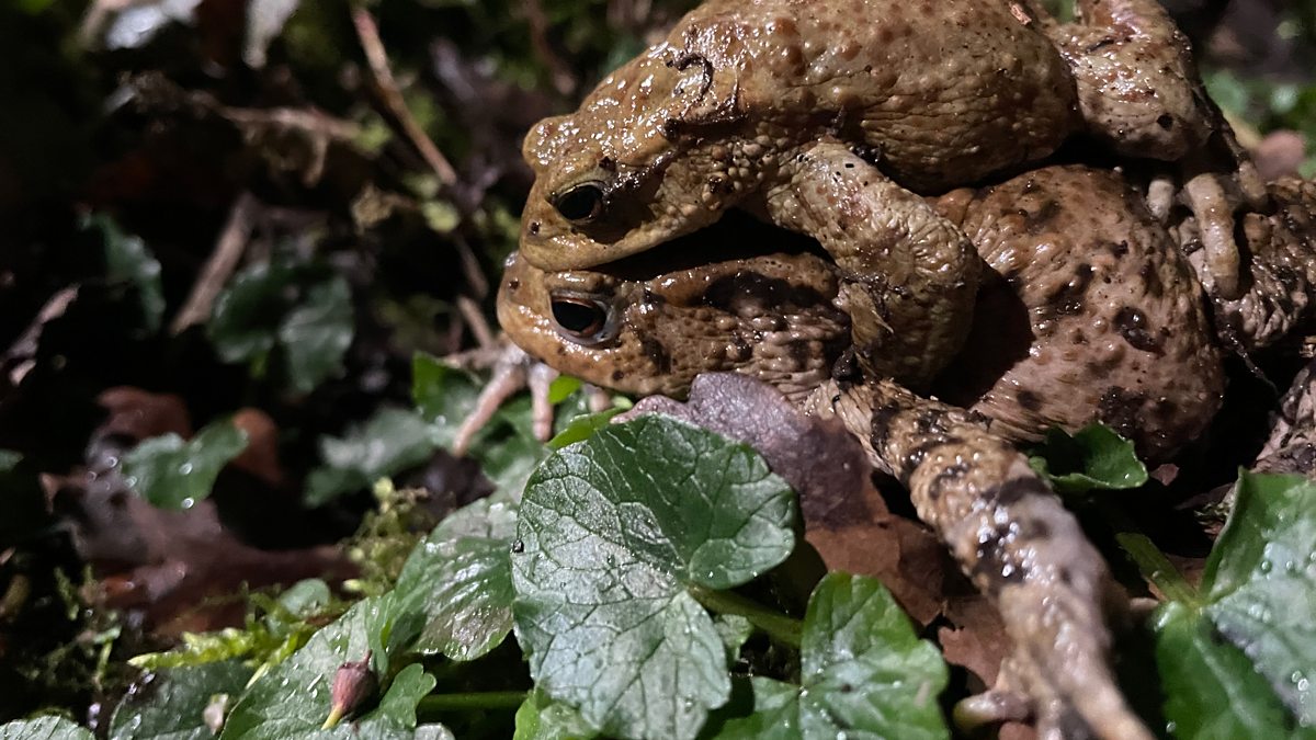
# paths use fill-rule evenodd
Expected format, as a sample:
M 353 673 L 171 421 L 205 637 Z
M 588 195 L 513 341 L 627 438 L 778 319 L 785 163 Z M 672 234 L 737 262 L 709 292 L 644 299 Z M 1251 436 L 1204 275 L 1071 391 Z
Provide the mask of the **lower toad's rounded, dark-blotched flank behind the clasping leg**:
M 938 396 L 1012 438 L 1101 421 L 1153 460 L 1205 429 L 1224 392 L 1205 300 L 1123 178 L 1046 167 L 938 205 L 988 266 Z

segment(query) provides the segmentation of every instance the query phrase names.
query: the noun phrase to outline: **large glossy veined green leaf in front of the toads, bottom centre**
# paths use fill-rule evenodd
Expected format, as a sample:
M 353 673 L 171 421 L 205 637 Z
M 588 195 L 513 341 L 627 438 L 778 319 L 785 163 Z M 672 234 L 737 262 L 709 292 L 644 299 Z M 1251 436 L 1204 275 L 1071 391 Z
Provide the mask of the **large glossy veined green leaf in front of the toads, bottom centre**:
M 795 544 L 787 485 L 749 446 L 646 416 L 550 456 L 513 548 L 530 674 L 604 733 L 694 737 L 726 650 L 691 586 L 730 589 Z

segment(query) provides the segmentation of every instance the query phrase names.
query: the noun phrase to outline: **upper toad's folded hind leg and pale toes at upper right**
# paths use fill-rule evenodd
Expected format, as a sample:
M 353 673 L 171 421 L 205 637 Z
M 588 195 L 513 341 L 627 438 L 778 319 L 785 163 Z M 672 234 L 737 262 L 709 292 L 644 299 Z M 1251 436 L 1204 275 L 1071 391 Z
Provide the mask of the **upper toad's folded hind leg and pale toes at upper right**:
M 1078 24 L 1033 11 L 1074 72 L 1088 132 L 1123 155 L 1175 163 L 1179 199 L 1202 225 L 1199 277 L 1209 294 L 1238 298 L 1234 217 L 1266 208 L 1266 190 L 1207 95 L 1187 37 L 1155 0 L 1079 0 Z M 1167 215 L 1163 196 L 1149 200 Z

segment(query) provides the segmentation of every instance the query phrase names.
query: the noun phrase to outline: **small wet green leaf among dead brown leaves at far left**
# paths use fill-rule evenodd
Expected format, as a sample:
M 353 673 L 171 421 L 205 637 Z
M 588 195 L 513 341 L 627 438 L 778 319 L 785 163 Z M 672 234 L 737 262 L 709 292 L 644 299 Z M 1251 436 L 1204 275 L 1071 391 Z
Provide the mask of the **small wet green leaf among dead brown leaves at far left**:
M 174 433 L 143 440 L 124 456 L 124 475 L 137 495 L 161 508 L 191 508 L 211 495 L 215 479 L 246 449 L 246 432 L 224 419 L 190 441 Z

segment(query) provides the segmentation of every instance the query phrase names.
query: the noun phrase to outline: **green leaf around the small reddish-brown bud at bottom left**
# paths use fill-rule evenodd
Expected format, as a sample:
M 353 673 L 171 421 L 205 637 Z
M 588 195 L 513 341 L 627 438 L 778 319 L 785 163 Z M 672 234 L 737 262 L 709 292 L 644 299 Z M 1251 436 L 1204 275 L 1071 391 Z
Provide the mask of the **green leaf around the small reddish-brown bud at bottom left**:
M 357 602 L 291 658 L 258 678 L 233 707 L 221 737 L 413 737 L 416 704 L 434 687 L 434 678 L 418 664 L 397 673 L 376 707 L 332 731 L 320 731 L 329 715 L 329 689 L 338 666 L 374 650 L 375 674 L 387 674 L 383 644 L 404 616 L 388 596 Z

